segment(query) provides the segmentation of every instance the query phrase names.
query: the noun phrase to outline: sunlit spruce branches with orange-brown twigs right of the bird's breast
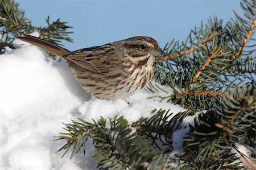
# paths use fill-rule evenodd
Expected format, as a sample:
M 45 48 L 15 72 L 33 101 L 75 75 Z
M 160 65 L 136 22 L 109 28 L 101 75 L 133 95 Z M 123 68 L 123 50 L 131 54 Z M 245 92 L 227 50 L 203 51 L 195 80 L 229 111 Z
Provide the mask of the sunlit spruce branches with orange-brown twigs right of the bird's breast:
M 241 6 L 246 16 L 254 20 L 255 6 L 253 3 L 243 1 Z M 210 109 L 213 105 L 218 105 L 218 101 L 229 94 L 230 90 L 236 88 L 238 84 L 242 84 L 243 81 L 248 82 L 248 79 L 255 79 L 255 56 L 236 57 L 236 60 L 233 57 L 238 49 L 244 52 L 246 43 L 253 40 L 251 37 L 253 37 L 254 30 L 251 28 L 254 29 L 255 26 L 250 22 L 244 22 L 244 19 L 237 14 L 236 17 L 237 21 L 232 19 L 225 27 L 216 18 L 210 19 L 209 25 L 203 26 L 202 24 L 199 30 L 192 30 L 188 37 L 190 44 L 195 44 L 193 42 L 195 39 L 203 39 L 201 36 L 214 35 L 215 32 L 218 32 L 213 36 L 212 41 L 204 44 L 204 48 L 194 49 L 189 55 L 184 54 L 182 58 L 176 60 L 158 63 L 155 70 L 156 80 L 160 84 L 171 86 L 175 91 L 171 96 L 162 97 L 163 99 L 168 98 L 168 101 L 179 103 L 187 109 L 198 111 L 201 107 Z M 208 38 L 208 36 L 205 37 Z M 178 45 L 179 42 L 170 44 L 173 44 L 171 47 L 175 48 L 175 50 L 171 49 L 170 53 L 174 53 L 177 49 L 186 49 L 188 46 L 187 41 L 181 45 Z M 218 52 L 218 49 L 221 50 Z M 214 52 L 217 52 L 216 56 L 209 55 Z M 200 95 L 202 97 L 199 97 Z M 217 96 L 221 98 L 216 98 Z M 202 105 L 198 105 L 198 103 L 202 103 Z M 205 107 L 205 105 L 209 107 Z

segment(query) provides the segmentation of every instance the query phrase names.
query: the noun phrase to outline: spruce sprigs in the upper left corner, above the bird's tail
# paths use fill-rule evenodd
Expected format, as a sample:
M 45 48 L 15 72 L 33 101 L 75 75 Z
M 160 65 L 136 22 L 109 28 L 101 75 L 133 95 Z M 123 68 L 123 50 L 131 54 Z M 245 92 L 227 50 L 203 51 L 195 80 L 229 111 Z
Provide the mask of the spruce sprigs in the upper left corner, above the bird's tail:
M 13 40 L 16 36 L 22 34 L 31 34 L 32 32 L 39 32 L 39 38 L 46 39 L 57 45 L 62 45 L 61 40 L 72 42 L 69 38 L 67 22 L 61 22 L 60 19 L 50 22 L 49 16 L 46 19 L 46 27 L 32 26 L 30 19 L 24 16 L 24 11 L 18 8 L 18 3 L 13 0 L 0 0 L 0 54 L 5 52 L 6 47 L 15 49 Z M 50 54 L 53 59 L 56 57 Z

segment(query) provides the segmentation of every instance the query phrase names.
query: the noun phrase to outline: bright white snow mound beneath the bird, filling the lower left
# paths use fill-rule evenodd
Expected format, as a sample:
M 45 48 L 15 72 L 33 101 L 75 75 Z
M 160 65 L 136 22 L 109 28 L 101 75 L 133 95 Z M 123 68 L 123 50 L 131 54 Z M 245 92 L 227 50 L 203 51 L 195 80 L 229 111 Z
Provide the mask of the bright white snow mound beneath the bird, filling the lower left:
M 56 153 L 65 142 L 53 137 L 63 132 L 62 122 L 77 117 L 92 122 L 115 115 L 134 122 L 150 117 L 153 109 L 171 109 L 172 116 L 185 111 L 157 97 L 147 99 L 170 95 L 162 91 L 141 90 L 127 98 L 129 105 L 124 99 L 95 99 L 84 92 L 63 61 L 49 60 L 33 45 L 18 40 L 15 44 L 22 47 L 0 56 L 0 169 L 96 169 L 92 141 L 85 156 L 81 152 L 70 160 L 70 152 L 62 159 L 63 153 Z

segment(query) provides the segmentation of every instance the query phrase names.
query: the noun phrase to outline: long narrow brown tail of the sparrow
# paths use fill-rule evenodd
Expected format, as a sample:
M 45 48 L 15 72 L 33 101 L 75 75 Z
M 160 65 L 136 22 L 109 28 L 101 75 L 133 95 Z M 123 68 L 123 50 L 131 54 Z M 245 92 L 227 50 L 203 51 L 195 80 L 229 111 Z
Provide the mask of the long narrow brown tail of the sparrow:
M 65 60 L 67 60 L 67 59 L 64 56 L 70 53 L 70 51 L 68 51 L 68 49 L 62 48 L 59 45 L 55 45 L 53 43 L 47 42 L 46 40 L 37 38 L 35 36 L 24 35 L 24 36 L 18 36 L 16 38 L 18 38 L 24 42 L 34 44 L 38 47 L 41 47 L 41 48 L 45 49 L 46 51 L 51 52 L 56 56 L 60 56 L 61 58 L 65 59 Z

